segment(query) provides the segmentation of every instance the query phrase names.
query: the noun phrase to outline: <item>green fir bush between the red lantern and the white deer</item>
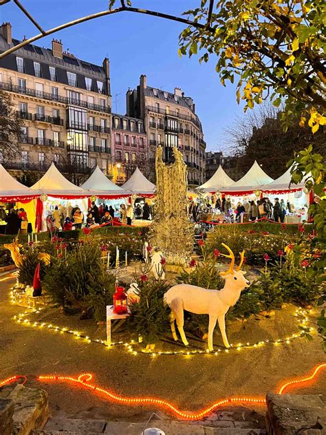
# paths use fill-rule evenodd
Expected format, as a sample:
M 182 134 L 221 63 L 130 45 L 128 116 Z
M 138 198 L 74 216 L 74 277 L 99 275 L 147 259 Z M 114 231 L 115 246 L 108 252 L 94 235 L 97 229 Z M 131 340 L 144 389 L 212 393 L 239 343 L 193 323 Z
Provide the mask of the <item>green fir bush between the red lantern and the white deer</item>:
M 129 307 L 127 330 L 135 340 L 140 336 L 144 344 L 155 343 L 162 335 L 169 335 L 170 308 L 164 305 L 163 296 L 170 286 L 155 279 L 138 280 L 138 286 L 140 302 Z

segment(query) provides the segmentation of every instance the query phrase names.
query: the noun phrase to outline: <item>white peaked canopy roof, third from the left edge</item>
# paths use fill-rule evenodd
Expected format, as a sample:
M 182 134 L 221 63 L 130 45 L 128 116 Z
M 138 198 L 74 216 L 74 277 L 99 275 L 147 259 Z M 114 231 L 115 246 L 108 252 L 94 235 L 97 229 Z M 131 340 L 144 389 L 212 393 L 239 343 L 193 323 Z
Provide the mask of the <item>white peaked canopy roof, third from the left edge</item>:
M 84 184 L 80 186 L 82 189 L 88 190 L 89 195 L 104 197 L 115 197 L 121 198 L 122 196 L 131 195 L 131 192 L 122 189 L 122 187 L 117 186 L 113 182 L 111 182 L 105 175 L 102 173 L 100 168 L 97 166 L 95 171 L 91 174 L 89 179 L 85 181 Z

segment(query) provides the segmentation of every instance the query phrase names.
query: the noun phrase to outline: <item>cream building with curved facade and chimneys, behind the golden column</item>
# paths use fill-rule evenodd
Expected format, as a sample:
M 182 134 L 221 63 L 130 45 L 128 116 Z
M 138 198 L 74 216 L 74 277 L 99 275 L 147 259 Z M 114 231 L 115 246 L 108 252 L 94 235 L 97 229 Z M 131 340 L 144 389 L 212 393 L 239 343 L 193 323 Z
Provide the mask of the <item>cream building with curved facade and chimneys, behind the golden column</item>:
M 188 184 L 198 186 L 205 178 L 205 149 L 202 123 L 195 114 L 195 103 L 180 88 L 174 94 L 147 86 L 140 76 L 136 89 L 127 91 L 127 115 L 144 120 L 151 160 L 158 145 L 164 160 L 170 162 L 173 147 L 178 147 L 188 166 Z

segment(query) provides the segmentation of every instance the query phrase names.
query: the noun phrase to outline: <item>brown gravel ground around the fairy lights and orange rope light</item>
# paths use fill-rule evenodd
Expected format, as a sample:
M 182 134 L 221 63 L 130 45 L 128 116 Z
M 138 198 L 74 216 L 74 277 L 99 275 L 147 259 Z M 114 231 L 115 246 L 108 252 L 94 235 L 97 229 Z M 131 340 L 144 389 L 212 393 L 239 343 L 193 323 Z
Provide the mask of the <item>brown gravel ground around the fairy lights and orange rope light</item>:
M 246 394 L 264 396 L 276 390 L 287 378 L 311 372 L 317 363 L 325 362 L 320 340 L 297 339 L 290 344 L 221 352 L 218 357 L 133 356 L 121 348 L 111 350 L 95 343 L 51 332 L 25 327 L 12 320 L 23 309 L 9 303 L 8 293 L 13 281 L 0 283 L 0 379 L 13 374 L 28 375 L 27 385 L 39 385 L 50 393 L 52 413 L 69 416 L 109 418 L 137 421 L 144 419 L 144 409 L 106 403 L 80 388 L 66 384 L 41 384 L 39 374 L 94 373 L 103 387 L 127 396 L 157 396 L 173 402 L 182 410 L 197 410 L 225 396 Z M 227 326 L 229 341 L 246 343 L 286 337 L 298 332 L 294 307 L 276 312 L 274 318 L 250 319 Z M 58 310 L 44 312 L 60 326 L 75 323 Z M 79 321 L 78 330 L 89 337 L 105 339 L 104 327 L 91 321 Z M 221 344 L 219 331 L 215 342 Z M 197 343 L 198 344 L 198 343 Z M 164 345 L 165 346 L 165 345 Z M 321 373 L 314 385 L 305 385 L 298 392 L 326 395 L 326 374 Z M 148 411 L 146 411 L 148 412 Z

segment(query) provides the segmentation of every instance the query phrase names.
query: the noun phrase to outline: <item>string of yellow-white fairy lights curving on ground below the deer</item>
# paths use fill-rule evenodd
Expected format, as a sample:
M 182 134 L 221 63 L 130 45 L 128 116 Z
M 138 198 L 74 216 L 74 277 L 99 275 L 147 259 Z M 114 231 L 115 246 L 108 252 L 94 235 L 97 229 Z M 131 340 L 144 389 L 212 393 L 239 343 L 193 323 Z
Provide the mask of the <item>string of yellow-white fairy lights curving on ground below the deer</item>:
M 10 299 L 13 304 L 17 304 L 17 300 L 14 295 L 14 291 L 12 290 L 10 292 Z M 107 341 L 100 340 L 100 339 L 94 339 L 89 337 L 88 335 L 85 335 L 83 332 L 79 332 L 76 330 L 72 330 L 67 327 L 57 326 L 54 323 L 46 322 L 46 321 L 33 321 L 30 320 L 28 317 L 30 315 L 38 315 L 41 313 L 43 308 L 32 308 L 30 311 L 25 310 L 25 312 L 19 313 L 19 315 L 14 316 L 14 320 L 17 321 L 17 323 L 23 325 L 23 326 L 30 326 L 33 328 L 41 328 L 41 329 L 47 329 L 52 330 L 54 332 L 59 332 L 60 334 L 69 335 L 74 339 L 78 339 L 81 342 L 85 344 L 89 343 L 96 343 L 101 346 L 105 346 L 106 348 L 114 348 L 114 347 L 121 347 L 124 348 L 127 352 L 129 352 L 132 355 L 137 354 L 147 354 L 151 355 L 151 357 L 158 357 L 160 355 L 181 355 L 185 357 L 191 357 L 191 356 L 199 356 L 203 354 L 209 354 L 214 355 L 215 357 L 221 355 L 221 354 L 228 354 L 229 352 L 239 352 L 241 350 L 245 349 L 252 349 L 252 350 L 259 350 L 263 348 L 266 345 L 274 345 L 274 346 L 280 346 L 282 344 L 290 344 L 294 340 L 302 338 L 305 333 L 309 332 L 309 334 L 314 333 L 314 328 L 312 326 L 309 326 L 309 311 L 305 310 L 304 308 L 297 308 L 294 312 L 294 317 L 296 317 L 296 321 L 298 323 L 298 327 L 301 328 L 301 332 L 294 333 L 292 335 L 288 335 L 287 337 L 280 337 L 278 339 L 265 339 L 261 341 L 256 341 L 253 343 L 237 343 L 237 344 L 230 344 L 230 348 L 218 348 L 214 352 L 210 352 L 208 349 L 188 349 L 186 350 L 160 350 L 155 351 L 153 349 L 144 349 L 140 347 L 140 343 L 137 343 L 134 340 L 131 341 L 116 341 L 111 343 L 109 346 L 107 344 Z M 217 346 L 216 346 L 217 347 Z

